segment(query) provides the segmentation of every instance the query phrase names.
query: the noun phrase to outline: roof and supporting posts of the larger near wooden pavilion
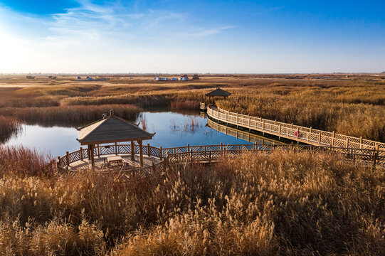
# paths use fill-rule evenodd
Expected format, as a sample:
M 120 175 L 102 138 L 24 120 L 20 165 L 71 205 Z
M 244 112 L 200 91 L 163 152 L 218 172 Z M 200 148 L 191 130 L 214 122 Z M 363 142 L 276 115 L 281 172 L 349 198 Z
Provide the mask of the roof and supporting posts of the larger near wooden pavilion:
M 92 168 L 95 167 L 94 150 L 97 144 L 116 142 L 131 142 L 131 149 L 135 148 L 135 141 L 139 144 L 139 163 L 143 166 L 142 141 L 152 139 L 154 134 L 144 131 L 139 124 L 134 124 L 114 115 L 114 111 L 105 112 L 103 119 L 85 125 L 78 129 L 81 145 L 88 146 L 88 159 Z M 134 159 L 135 150 L 131 150 L 131 158 Z

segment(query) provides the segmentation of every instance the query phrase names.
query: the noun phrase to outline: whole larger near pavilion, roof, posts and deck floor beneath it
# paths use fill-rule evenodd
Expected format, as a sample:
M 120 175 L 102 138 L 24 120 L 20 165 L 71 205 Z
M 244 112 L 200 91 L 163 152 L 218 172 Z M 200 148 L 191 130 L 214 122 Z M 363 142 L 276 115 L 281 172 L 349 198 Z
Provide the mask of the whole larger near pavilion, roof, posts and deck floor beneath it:
M 143 146 L 142 141 L 146 139 L 152 139 L 154 134 L 144 131 L 138 127 L 138 124 L 134 124 L 120 117 L 114 115 L 113 110 L 110 112 L 105 112 L 103 114 L 103 119 L 100 119 L 96 122 L 85 125 L 84 127 L 78 128 L 79 139 L 81 145 L 87 145 L 88 149 L 86 151 L 87 160 L 75 164 L 75 168 L 78 166 L 88 166 L 91 165 L 92 169 L 97 169 L 109 166 L 126 166 L 129 168 L 143 167 L 144 164 L 152 165 L 153 162 L 158 162 L 159 159 L 153 159 L 150 156 L 147 146 L 147 155 L 149 157 L 143 157 Z M 135 141 L 139 146 L 135 146 Z M 119 142 L 131 142 L 131 145 L 124 145 L 125 149 L 121 152 L 126 153 L 123 156 L 119 155 L 119 147 L 123 145 L 118 145 Z M 100 146 L 100 144 L 112 144 Z M 114 145 L 115 144 L 115 145 Z M 110 147 L 115 146 L 115 154 L 107 155 L 105 158 L 101 159 L 100 151 L 108 151 Z M 126 149 L 127 148 L 127 149 Z M 80 150 L 83 154 L 83 151 Z M 127 154 L 128 153 L 128 154 Z M 136 154 L 139 153 L 139 156 Z M 95 161 L 95 156 L 97 156 L 97 161 Z M 139 162 L 139 163 L 138 163 Z

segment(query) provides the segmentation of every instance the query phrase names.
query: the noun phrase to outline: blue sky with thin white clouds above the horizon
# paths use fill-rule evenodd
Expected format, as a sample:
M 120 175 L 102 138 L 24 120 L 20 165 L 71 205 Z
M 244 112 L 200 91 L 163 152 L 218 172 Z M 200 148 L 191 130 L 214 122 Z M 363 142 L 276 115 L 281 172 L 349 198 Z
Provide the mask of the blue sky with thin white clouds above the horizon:
M 378 73 L 384 10 L 370 0 L 0 0 L 0 73 Z

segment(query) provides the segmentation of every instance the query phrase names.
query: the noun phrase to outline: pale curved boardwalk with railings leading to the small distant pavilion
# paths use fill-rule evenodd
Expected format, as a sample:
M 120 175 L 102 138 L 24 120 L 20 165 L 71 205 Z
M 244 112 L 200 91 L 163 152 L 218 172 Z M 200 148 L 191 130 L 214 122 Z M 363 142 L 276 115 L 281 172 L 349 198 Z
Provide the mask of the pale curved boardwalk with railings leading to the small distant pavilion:
M 325 132 L 312 129 L 312 127 L 307 128 L 294 124 L 286 124 L 261 117 L 250 117 L 246 114 L 228 112 L 219 107 L 207 107 L 207 114 L 209 117 L 221 120 L 222 122 L 254 129 L 259 132 L 266 132 L 305 144 L 348 149 L 385 149 L 385 143 L 382 142 L 374 142 L 369 139 L 362 139 L 362 137 L 350 137 L 334 132 Z

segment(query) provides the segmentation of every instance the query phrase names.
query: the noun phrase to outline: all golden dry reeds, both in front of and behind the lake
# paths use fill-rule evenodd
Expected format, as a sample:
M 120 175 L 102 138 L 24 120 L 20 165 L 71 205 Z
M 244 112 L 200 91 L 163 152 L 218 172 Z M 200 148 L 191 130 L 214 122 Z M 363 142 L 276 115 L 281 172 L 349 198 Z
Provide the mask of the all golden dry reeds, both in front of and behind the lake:
M 0 78 L 0 134 L 110 109 L 126 119 L 196 110 L 221 86 L 233 93 L 216 100 L 226 110 L 385 142 L 383 78 L 331 76 Z M 189 122 L 178 129 L 194 130 Z M 123 181 L 57 173 L 49 155 L 0 146 L 0 255 L 385 255 L 384 213 L 385 169 L 336 154 L 245 154 Z

